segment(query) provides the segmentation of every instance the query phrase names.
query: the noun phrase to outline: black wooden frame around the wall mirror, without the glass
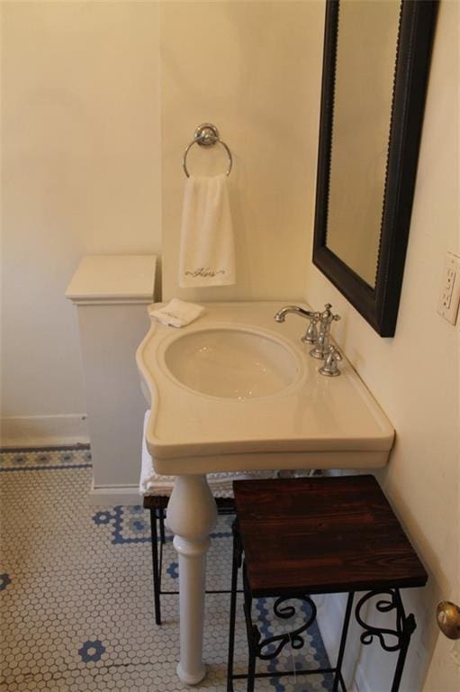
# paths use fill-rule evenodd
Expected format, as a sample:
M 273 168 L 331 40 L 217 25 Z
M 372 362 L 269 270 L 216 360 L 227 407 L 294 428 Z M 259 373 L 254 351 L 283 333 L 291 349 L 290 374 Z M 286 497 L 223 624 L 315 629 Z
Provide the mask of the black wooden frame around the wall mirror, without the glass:
M 327 0 L 313 263 L 381 336 L 393 336 L 409 237 L 437 0 L 402 0 L 380 249 L 370 287 L 326 245 L 338 43 L 338 0 Z

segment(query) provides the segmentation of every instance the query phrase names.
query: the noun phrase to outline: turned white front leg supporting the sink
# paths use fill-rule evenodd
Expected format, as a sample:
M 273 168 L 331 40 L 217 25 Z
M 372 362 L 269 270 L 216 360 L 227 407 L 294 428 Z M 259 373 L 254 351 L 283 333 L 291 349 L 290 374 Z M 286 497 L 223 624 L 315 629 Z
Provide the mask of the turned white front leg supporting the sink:
M 203 680 L 206 551 L 217 507 L 206 476 L 177 476 L 167 505 L 167 525 L 179 554 L 180 660 L 177 675 L 187 685 Z

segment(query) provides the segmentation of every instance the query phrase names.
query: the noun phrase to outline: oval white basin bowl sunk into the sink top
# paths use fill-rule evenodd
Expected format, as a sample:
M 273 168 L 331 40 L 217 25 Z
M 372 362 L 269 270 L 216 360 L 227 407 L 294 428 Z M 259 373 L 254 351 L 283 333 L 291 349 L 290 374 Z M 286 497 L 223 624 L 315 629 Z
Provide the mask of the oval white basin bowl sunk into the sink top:
M 302 374 L 289 344 L 260 330 L 233 327 L 185 332 L 167 346 L 164 362 L 184 387 L 239 400 L 282 392 Z

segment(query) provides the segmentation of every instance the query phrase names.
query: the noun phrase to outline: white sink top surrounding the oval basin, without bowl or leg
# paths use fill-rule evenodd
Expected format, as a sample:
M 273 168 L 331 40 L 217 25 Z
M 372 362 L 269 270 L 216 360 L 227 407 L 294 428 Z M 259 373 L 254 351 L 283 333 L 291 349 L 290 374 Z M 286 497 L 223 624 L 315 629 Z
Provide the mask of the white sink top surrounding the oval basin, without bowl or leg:
M 301 341 L 308 322 L 295 314 L 275 322 L 286 302 L 201 305 L 203 316 L 181 329 L 152 319 L 137 352 L 151 407 L 146 442 L 158 473 L 386 464 L 392 424 L 345 358 L 340 377 L 320 375 L 323 361 L 311 358 L 311 345 Z M 165 365 L 169 343 L 187 332 L 220 327 L 271 332 L 297 356 L 298 377 L 276 394 L 243 400 L 200 394 L 179 383 Z

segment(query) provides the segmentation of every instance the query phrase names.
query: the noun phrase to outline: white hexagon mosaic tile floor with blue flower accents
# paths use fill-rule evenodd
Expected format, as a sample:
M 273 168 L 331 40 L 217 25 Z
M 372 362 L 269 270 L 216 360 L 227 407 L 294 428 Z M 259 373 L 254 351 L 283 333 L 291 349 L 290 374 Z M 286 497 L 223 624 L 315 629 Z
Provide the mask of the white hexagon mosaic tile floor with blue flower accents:
M 91 454 L 85 448 L 0 453 L 0 690 L 190 689 L 176 677 L 178 596 L 161 596 L 163 625 L 153 619 L 149 514 L 140 506 L 91 505 L 91 477 Z M 231 516 L 221 516 L 212 533 L 211 589 L 230 588 L 231 522 Z M 167 534 L 167 590 L 177 587 L 177 569 Z M 208 674 L 197 690 L 226 690 L 229 599 L 227 594 L 206 596 Z M 263 635 L 284 626 L 275 622 L 271 605 L 269 599 L 255 604 Z M 245 673 L 240 603 L 238 614 L 235 672 Z M 316 624 L 305 641 L 302 651 L 284 652 L 267 671 L 328 667 Z M 242 692 L 246 681 L 234 687 Z M 330 678 L 321 675 L 260 678 L 256 684 L 257 692 L 328 689 Z

